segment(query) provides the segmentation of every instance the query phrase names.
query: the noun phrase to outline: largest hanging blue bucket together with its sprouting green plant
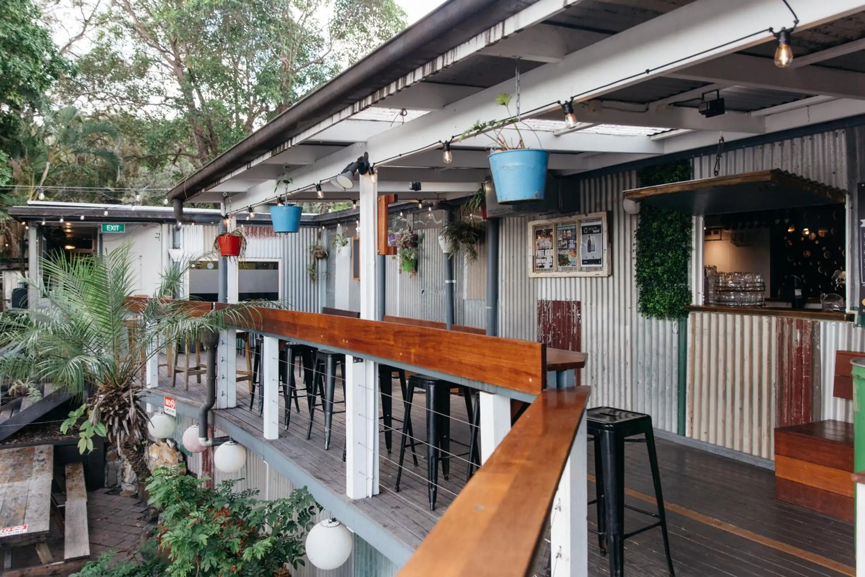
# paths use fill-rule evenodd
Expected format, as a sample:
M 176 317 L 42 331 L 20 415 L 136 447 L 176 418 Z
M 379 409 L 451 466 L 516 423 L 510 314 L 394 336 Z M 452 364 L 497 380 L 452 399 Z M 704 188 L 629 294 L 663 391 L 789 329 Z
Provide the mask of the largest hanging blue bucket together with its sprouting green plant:
M 526 147 L 519 124 L 510 113 L 510 94 L 499 94 L 496 104 L 508 111 L 507 119 L 490 122 L 478 120 L 460 139 L 483 133 L 493 141 L 490 171 L 499 204 L 542 201 L 547 186 L 549 152 Z M 516 130 L 516 142 L 505 137 L 504 130 L 510 125 Z

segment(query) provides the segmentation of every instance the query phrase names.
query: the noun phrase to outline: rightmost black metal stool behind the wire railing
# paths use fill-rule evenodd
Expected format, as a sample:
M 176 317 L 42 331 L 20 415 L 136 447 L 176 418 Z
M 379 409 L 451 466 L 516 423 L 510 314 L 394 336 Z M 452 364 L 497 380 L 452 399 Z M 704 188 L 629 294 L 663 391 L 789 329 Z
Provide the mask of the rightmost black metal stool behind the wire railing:
M 400 490 L 400 479 L 402 478 L 402 467 L 406 457 L 406 446 L 411 439 L 412 451 L 414 451 L 414 438 L 412 431 L 412 404 L 414 390 L 419 388 L 426 394 L 426 479 L 429 491 L 430 510 L 435 510 L 436 498 L 439 493 L 439 464 L 445 479 L 451 474 L 451 389 L 455 385 L 448 381 L 440 381 L 432 376 L 411 375 L 408 377 L 408 387 L 404 401 L 405 415 L 402 423 L 402 436 L 400 439 L 400 462 L 396 472 L 395 490 Z M 465 395 L 465 408 L 470 423 L 469 456 L 470 466 L 468 476 L 471 477 L 471 464 L 480 466 L 480 452 L 477 446 L 477 433 L 472 429 L 475 422 L 475 411 L 471 402 L 471 389 L 458 385 Z M 476 405 L 477 407 L 477 405 Z M 474 433 L 474 434 L 472 434 Z M 454 441 L 458 443 L 458 441 Z M 465 445 L 464 443 L 459 443 Z M 462 455 L 460 455 L 462 456 Z M 477 459 L 477 460 L 476 460 Z M 415 465 L 417 461 L 415 460 Z

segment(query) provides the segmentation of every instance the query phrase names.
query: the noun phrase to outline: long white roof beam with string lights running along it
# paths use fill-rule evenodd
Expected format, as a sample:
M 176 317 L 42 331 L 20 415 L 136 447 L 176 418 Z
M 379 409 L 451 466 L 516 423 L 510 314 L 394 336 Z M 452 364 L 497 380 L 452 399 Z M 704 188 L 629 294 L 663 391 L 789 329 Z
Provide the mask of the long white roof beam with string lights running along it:
M 865 8 L 862 0 L 791 0 L 791 3 L 802 29 Z M 536 5 L 532 4 L 526 10 Z M 522 74 L 522 109 L 537 114 L 550 112 L 558 108 L 556 100 L 569 97 L 578 101 L 593 99 L 655 76 L 670 75 L 718 56 L 771 41 L 774 36 L 768 28 L 789 26 L 790 18 L 789 11 L 776 0 L 696 0 L 568 54 L 559 63 L 546 64 Z M 746 31 L 751 30 L 753 34 L 746 35 Z M 768 63 L 773 67 L 772 61 Z M 740 84 L 738 81 L 733 83 Z M 436 147 L 437 142 L 462 133 L 477 119 L 501 118 L 502 109 L 495 104 L 495 96 L 512 91 L 513 81 L 507 80 L 441 111 L 394 126 L 369 138 L 365 144 L 349 146 L 311 166 L 293 171 L 294 185 L 330 178 L 363 151 L 368 151 L 372 162 L 388 163 L 413 151 Z M 245 205 L 249 202 L 247 195 L 228 200 L 232 209 L 236 203 Z

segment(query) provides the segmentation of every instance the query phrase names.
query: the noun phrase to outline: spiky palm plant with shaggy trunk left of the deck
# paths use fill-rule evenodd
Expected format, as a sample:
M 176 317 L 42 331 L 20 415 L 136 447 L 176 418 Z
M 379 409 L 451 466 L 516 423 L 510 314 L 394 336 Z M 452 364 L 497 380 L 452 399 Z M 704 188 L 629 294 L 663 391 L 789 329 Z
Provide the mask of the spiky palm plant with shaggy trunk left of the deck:
M 138 399 L 144 365 L 166 344 L 254 314 L 248 303 L 210 311 L 204 303 L 174 300 L 195 260 L 172 263 L 156 294 L 144 300 L 132 298 L 128 245 L 71 260 L 57 254 L 44 260 L 46 280 L 35 285 L 48 306 L 0 313 L 0 375 L 52 382 L 78 395 L 82 404 L 64 422 L 64 433 L 79 427 L 81 452 L 93 450 L 94 435 L 105 436 L 141 482 L 150 477 L 148 417 Z

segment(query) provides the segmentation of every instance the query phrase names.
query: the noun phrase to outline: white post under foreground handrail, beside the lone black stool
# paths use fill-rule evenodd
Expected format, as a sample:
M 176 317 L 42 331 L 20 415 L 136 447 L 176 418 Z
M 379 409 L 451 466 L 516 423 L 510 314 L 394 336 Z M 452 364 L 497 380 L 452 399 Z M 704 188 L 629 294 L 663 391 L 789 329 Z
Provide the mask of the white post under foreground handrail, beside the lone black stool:
M 571 455 L 561 474 L 550 512 L 550 575 L 584 577 L 588 574 L 586 518 L 586 418 L 583 417 Z

